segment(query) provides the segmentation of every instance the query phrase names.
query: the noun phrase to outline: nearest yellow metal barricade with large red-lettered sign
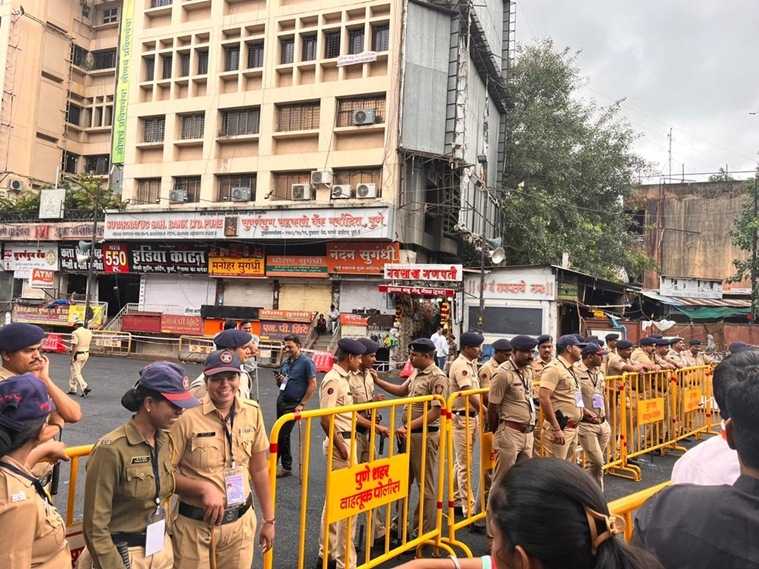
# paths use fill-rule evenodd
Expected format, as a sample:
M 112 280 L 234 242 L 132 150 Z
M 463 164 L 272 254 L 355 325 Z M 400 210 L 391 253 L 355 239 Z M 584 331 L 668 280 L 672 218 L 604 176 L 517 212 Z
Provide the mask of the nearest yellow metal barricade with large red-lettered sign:
M 431 531 L 423 531 L 424 516 L 424 494 L 425 494 L 425 461 L 427 457 L 427 446 L 422 445 L 421 449 L 414 449 L 411 443 L 411 433 L 406 438 L 406 444 L 403 449 L 396 448 L 392 442 L 388 442 L 388 456 L 379 457 L 375 454 L 377 442 L 379 441 L 379 435 L 375 428 L 372 427 L 368 433 L 369 445 L 372 449 L 371 454 L 374 460 L 370 457 L 368 463 L 356 464 L 356 438 L 357 438 L 357 414 L 362 411 L 368 411 L 371 414 L 372 422 L 374 423 L 377 414 L 384 410 L 388 414 L 389 429 L 391 433 L 395 433 L 395 430 L 400 427 L 402 418 L 399 415 L 406 413 L 408 417 L 411 417 L 411 405 L 423 404 L 424 416 L 426 417 L 432 409 L 432 402 L 439 401 L 442 410 L 445 410 L 445 400 L 438 395 L 425 396 L 425 397 L 412 397 L 405 399 L 394 399 L 388 401 L 378 401 L 373 403 L 362 403 L 360 405 L 351 405 L 347 407 L 339 407 L 335 409 L 317 409 L 313 411 L 304 411 L 302 413 L 288 413 L 280 417 L 274 424 L 271 430 L 271 450 L 269 453 L 269 480 L 271 483 L 272 493 L 276 495 L 277 488 L 277 452 L 278 445 L 277 440 L 279 438 L 279 432 L 282 427 L 289 421 L 304 421 L 305 426 L 303 428 L 303 440 L 300 441 L 302 454 L 300 456 L 300 466 L 303 472 L 303 480 L 301 487 L 301 511 L 299 520 L 299 535 L 305 536 L 309 531 L 308 527 L 308 510 L 309 498 L 311 492 L 310 479 L 308 473 L 312 469 L 311 459 L 311 437 L 319 436 L 322 434 L 322 421 L 326 420 L 329 430 L 329 436 L 326 438 L 326 444 L 328 449 L 334 448 L 334 439 L 336 436 L 341 436 L 340 433 L 335 432 L 335 417 L 342 413 L 352 414 L 352 428 L 350 432 L 350 457 L 349 462 L 352 466 L 347 468 L 333 470 L 333 453 L 328 452 L 326 456 L 326 488 L 325 488 L 325 504 L 326 515 L 322 520 L 324 524 L 321 530 L 324 535 L 329 533 L 329 526 L 333 523 L 341 523 L 347 520 L 347 528 L 345 533 L 348 536 L 346 539 L 346 556 L 349 549 L 349 539 L 352 535 L 352 527 L 357 524 L 357 516 L 366 515 L 367 531 L 365 534 L 363 555 L 358 558 L 357 567 L 362 569 L 368 569 L 370 567 L 376 567 L 389 559 L 397 557 L 404 551 L 421 548 L 424 546 L 434 546 L 443 549 L 447 553 L 452 554 L 453 550 L 442 541 L 441 527 L 442 527 L 442 503 L 435 501 L 435 495 L 432 494 L 432 501 L 434 502 L 435 523 Z M 317 434 L 313 433 L 313 422 L 316 421 Z M 441 412 L 440 415 L 440 427 L 438 427 L 440 433 L 439 449 L 445 448 L 445 438 L 447 431 L 447 416 L 445 412 Z M 422 438 L 426 439 L 428 435 L 435 432 L 435 427 L 430 427 L 425 423 L 422 428 Z M 300 432 L 300 429 L 299 429 Z M 414 433 L 417 434 L 417 433 Z M 345 438 L 345 437 L 344 437 Z M 348 442 L 348 439 L 345 438 Z M 421 468 L 420 485 L 419 489 L 419 525 L 412 527 L 412 523 L 409 521 L 409 513 L 411 511 L 409 507 L 410 502 L 410 484 L 409 484 L 409 469 L 411 456 L 414 453 L 420 453 L 421 456 Z M 316 465 L 314 468 L 322 468 L 322 465 Z M 444 457 L 438 457 L 438 484 L 442 480 L 440 478 L 444 472 L 445 464 Z M 439 489 L 436 487 L 435 490 Z M 321 505 L 321 504 L 319 504 Z M 395 505 L 394 512 L 391 506 Z M 429 505 L 427 506 L 429 508 Z M 275 501 L 276 508 L 276 501 Z M 384 517 L 387 520 L 387 531 L 385 533 L 384 551 L 372 557 L 372 545 L 373 545 L 373 532 L 372 523 L 374 520 L 374 512 L 384 513 Z M 393 517 L 395 514 L 395 518 Z M 393 522 L 391 523 L 391 520 Z M 391 527 L 393 526 L 394 527 Z M 400 542 L 394 545 L 391 541 L 391 534 L 393 530 L 398 532 L 400 536 Z M 415 531 L 415 535 L 410 536 L 410 530 Z M 313 567 L 314 558 L 306 560 L 305 551 L 306 542 L 301 539 L 298 544 L 298 562 L 296 567 L 302 569 L 306 565 Z M 275 548 L 276 549 L 276 548 Z M 324 556 L 323 567 L 327 567 L 327 563 L 330 557 L 329 540 L 324 540 Z M 271 569 L 275 566 L 276 561 L 274 559 L 275 552 L 270 550 L 264 556 L 264 567 Z M 314 555 L 315 557 L 315 555 Z

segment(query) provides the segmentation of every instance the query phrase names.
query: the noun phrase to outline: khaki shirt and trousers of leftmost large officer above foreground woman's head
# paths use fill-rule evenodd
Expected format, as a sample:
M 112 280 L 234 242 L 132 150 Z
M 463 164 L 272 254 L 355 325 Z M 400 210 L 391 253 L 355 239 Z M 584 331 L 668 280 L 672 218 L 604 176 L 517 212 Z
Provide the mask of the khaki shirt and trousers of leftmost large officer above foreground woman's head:
M 517 460 L 532 458 L 535 403 L 532 369 L 517 367 L 514 359 L 501 364 L 493 376 L 488 405 L 498 406 L 498 430 L 493 435 L 494 480 L 498 481 Z

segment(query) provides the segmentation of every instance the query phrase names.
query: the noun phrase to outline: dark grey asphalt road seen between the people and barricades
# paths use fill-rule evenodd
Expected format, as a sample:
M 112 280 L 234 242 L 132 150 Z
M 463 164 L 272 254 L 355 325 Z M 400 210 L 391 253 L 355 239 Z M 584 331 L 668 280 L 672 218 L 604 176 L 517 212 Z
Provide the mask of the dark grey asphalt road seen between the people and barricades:
M 68 355 L 50 354 L 51 376 L 64 391 L 68 389 Z M 84 418 L 76 425 L 69 425 L 64 431 L 64 441 L 69 446 L 94 443 L 99 437 L 109 433 L 129 419 L 130 413 L 121 407 L 120 399 L 123 393 L 129 389 L 138 379 L 139 370 L 148 362 L 137 359 L 123 359 L 93 356 L 88 361 L 84 376 L 92 387 L 92 393 L 86 399 L 77 398 L 82 406 Z M 185 364 L 190 379 L 197 377 L 202 366 L 197 364 Z M 264 414 L 267 428 L 271 428 L 276 420 L 275 402 L 277 387 L 274 377 L 269 369 L 261 369 L 260 380 L 260 404 Z M 314 397 L 309 403 L 309 408 L 316 408 L 318 400 Z M 297 429 L 293 430 L 293 450 L 297 450 Z M 304 428 L 305 433 L 305 428 Z M 305 541 L 304 567 L 314 567 L 318 555 L 318 528 L 324 502 L 326 462 L 322 453 L 323 435 L 319 425 L 312 425 L 312 442 L 309 445 L 312 465 L 308 473 L 308 492 L 306 517 L 306 532 L 302 539 Z M 689 445 L 686 445 L 689 446 Z M 632 482 L 613 476 L 606 477 L 606 496 L 613 500 L 627 494 L 642 490 L 668 480 L 672 465 L 676 460 L 671 456 L 646 455 L 641 458 L 639 465 L 643 470 L 643 481 Z M 84 462 L 84 461 L 83 461 Z M 297 458 L 296 465 L 297 469 Z M 66 507 L 68 493 L 68 469 L 64 467 L 61 473 L 59 495 L 56 503 L 63 512 Z M 82 494 L 84 484 L 84 468 L 80 470 L 80 482 L 78 484 L 77 500 L 75 507 L 75 520 L 82 516 Z M 297 476 L 297 471 L 289 478 L 278 480 L 276 489 L 277 503 L 277 537 L 275 543 L 274 567 L 294 568 L 298 567 L 298 546 L 301 543 L 299 521 L 302 510 L 302 486 Z M 416 501 L 414 497 L 413 501 Z M 260 510 L 259 510 L 260 511 Z M 260 516 L 259 516 L 260 518 Z M 484 538 L 478 534 L 463 531 L 457 533 L 457 537 L 466 542 L 475 555 L 484 554 Z M 261 567 L 260 552 L 256 554 L 254 567 Z M 387 562 L 381 567 L 394 567 L 401 562 L 410 559 L 404 556 L 398 560 Z M 363 554 L 359 552 L 359 562 L 362 562 Z

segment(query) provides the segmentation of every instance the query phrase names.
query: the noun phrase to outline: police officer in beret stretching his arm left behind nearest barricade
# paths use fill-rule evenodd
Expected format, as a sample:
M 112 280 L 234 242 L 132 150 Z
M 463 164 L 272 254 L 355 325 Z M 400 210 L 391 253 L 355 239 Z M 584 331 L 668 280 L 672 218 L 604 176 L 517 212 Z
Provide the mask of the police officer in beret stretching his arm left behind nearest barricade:
M 435 344 L 432 340 L 418 338 L 411 342 L 409 359 L 414 371 L 403 384 L 395 385 L 382 379 L 375 379 L 375 383 L 396 397 L 437 395 L 445 400 L 448 397 L 448 378 L 435 365 Z M 420 497 L 414 511 L 414 533 L 420 527 L 420 511 L 422 532 L 431 531 L 435 525 L 435 469 L 440 447 L 440 414 L 443 405 L 444 402 L 439 399 L 430 403 L 415 403 L 411 406 L 411 417 L 406 415 L 404 407 L 402 424 L 395 431 L 396 437 L 403 441 L 406 452 L 410 453 L 409 485 L 416 481 L 417 486 L 421 488 L 422 475 L 424 476 L 424 495 Z M 424 465 L 422 445 L 426 445 Z M 398 528 L 398 517 L 393 525 Z M 396 538 L 398 536 L 400 532 L 396 530 Z

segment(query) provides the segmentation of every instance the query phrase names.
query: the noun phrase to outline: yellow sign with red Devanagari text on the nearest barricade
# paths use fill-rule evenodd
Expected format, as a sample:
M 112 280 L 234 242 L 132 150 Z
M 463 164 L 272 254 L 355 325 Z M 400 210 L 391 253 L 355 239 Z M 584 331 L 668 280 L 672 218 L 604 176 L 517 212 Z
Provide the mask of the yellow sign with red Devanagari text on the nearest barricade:
M 327 521 L 338 522 L 408 495 L 409 455 L 365 462 L 329 473 Z

